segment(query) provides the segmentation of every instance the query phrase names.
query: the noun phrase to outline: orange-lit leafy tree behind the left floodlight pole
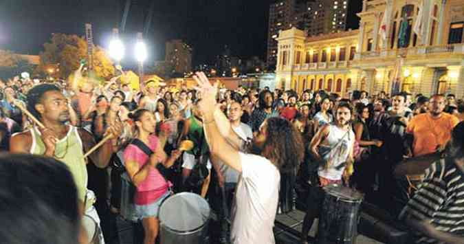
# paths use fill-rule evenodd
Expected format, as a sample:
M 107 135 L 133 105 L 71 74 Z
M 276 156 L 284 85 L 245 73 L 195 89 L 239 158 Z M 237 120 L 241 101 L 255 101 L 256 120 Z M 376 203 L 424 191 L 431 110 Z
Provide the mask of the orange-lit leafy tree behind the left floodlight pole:
M 87 41 L 77 35 L 52 34 L 49 43 L 43 45 L 41 52 L 41 64 L 36 71 L 47 76 L 49 67 L 58 66 L 56 76 L 67 78 L 78 69 L 80 60 L 87 58 Z M 93 71 L 97 76 L 109 78 L 113 76 L 115 69 L 111 59 L 99 46 L 93 48 Z

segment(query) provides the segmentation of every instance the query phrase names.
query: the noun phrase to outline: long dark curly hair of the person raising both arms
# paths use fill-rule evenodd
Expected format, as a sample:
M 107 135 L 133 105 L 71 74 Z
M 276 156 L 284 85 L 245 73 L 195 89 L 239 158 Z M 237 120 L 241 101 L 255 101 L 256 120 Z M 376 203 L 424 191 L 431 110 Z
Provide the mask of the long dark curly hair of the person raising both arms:
M 269 159 L 281 173 L 298 170 L 305 148 L 301 134 L 283 118 L 269 118 L 267 121 L 267 138 L 263 147 L 263 156 Z

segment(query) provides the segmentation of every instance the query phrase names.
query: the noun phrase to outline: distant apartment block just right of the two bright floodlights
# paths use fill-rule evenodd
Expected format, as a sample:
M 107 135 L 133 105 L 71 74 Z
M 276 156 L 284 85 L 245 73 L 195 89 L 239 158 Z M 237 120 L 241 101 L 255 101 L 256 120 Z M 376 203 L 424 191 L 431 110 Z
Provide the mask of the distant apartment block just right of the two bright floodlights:
M 188 74 L 192 71 L 192 47 L 181 40 L 166 42 L 165 59 L 172 67 L 172 73 Z

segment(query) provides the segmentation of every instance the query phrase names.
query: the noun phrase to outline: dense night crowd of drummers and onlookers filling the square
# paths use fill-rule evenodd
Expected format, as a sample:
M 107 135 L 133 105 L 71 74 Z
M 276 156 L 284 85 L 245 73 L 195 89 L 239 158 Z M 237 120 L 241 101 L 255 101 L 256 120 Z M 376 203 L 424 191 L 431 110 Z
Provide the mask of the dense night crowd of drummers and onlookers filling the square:
M 176 192 L 208 199 L 217 242 L 274 243 L 274 219 L 296 208 L 297 185 L 309 192 L 305 243 L 329 184 L 363 192 L 417 243 L 464 242 L 464 102 L 453 94 L 232 91 L 203 73 L 195 89 L 148 80 L 136 91 L 81 70 L 67 81 L 0 80 L 0 223 L 42 218 L 43 231 L 29 230 L 34 243 L 88 243 L 83 215 L 101 225 L 100 243 L 112 243 L 124 174 L 135 186 L 128 221 L 142 223 L 145 244 Z M 47 240 L 59 228 L 67 232 Z M 6 243 L 27 243 L 14 233 L 0 228 Z

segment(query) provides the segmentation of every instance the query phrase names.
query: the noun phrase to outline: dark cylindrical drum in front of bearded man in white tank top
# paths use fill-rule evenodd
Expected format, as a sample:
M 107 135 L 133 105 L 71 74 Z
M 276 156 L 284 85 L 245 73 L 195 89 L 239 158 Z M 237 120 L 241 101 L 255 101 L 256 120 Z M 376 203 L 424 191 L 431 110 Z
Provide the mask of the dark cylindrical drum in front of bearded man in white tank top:
M 337 184 L 325 186 L 324 191 L 326 194 L 319 217 L 317 243 L 355 243 L 364 195 Z

